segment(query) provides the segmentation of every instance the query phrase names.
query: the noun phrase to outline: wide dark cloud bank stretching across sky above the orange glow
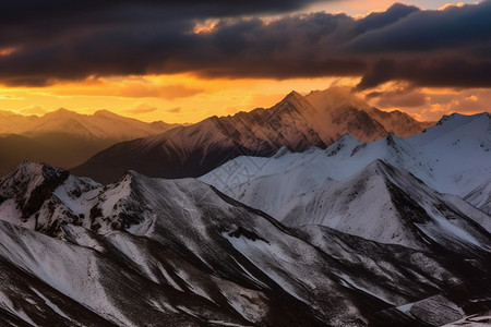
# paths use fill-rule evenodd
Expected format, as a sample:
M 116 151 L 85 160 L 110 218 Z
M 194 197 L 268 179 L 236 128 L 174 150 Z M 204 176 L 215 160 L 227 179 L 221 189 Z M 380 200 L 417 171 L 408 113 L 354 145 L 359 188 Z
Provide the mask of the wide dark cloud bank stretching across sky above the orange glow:
M 306 77 L 362 75 L 359 89 L 388 81 L 421 86 L 491 86 L 491 1 L 422 11 L 395 4 L 355 20 L 345 14 L 242 19 L 315 2 L 2 1 L 0 82 L 145 73 Z M 212 33 L 194 34 L 215 17 Z

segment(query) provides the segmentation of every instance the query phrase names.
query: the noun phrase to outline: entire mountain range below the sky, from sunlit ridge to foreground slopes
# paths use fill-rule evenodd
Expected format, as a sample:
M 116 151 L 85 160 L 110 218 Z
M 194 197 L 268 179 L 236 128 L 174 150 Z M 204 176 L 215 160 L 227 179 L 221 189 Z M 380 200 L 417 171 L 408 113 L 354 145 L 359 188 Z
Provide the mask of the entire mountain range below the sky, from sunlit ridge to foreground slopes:
M 2 326 L 486 320 L 489 112 L 422 123 L 335 87 L 189 126 L 61 110 L 17 137 L 70 124 L 153 136 L 0 178 Z

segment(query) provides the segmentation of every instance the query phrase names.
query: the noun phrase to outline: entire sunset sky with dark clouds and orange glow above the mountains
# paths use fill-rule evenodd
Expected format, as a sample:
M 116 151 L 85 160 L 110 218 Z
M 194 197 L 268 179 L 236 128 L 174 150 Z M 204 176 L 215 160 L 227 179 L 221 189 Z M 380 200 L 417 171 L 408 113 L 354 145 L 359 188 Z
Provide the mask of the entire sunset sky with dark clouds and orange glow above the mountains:
M 489 111 L 491 1 L 7 0 L 0 110 L 196 122 L 349 85 L 420 120 Z

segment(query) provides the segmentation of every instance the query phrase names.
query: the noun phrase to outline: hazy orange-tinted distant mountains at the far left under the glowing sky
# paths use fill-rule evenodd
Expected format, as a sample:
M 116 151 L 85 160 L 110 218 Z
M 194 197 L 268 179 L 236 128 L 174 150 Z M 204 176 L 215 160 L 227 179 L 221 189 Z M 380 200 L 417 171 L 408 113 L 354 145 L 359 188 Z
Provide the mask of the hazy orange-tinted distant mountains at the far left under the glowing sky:
M 161 121 L 145 123 L 107 110 L 87 116 L 58 109 L 43 117 L 0 111 L 0 174 L 22 160 L 72 168 L 116 143 L 175 126 Z

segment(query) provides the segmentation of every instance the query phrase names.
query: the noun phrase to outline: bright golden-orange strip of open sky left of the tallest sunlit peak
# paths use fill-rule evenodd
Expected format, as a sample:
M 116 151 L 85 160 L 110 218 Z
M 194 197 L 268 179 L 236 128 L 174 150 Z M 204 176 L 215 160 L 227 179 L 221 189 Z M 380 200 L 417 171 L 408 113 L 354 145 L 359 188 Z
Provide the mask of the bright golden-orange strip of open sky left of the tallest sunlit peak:
M 88 77 L 45 87 L 0 86 L 0 110 L 44 114 L 59 108 L 92 114 L 107 109 L 142 121 L 194 123 L 271 107 L 291 90 L 307 94 L 333 84 L 356 85 L 359 78 L 200 78 L 193 74 Z

